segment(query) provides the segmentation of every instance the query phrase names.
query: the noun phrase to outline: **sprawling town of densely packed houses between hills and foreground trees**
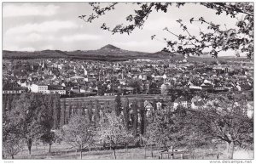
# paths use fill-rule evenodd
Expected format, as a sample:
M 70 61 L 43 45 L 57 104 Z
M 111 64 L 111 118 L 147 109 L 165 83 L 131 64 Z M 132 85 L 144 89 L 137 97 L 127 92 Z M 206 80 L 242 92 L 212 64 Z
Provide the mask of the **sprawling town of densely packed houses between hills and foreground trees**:
M 187 58 L 120 62 L 6 59 L 3 60 L 3 96 L 58 93 L 66 104 L 62 108 L 72 100 L 75 108 L 77 101 L 87 101 L 89 105 L 95 99 L 103 105 L 119 93 L 124 98 L 144 99 L 145 108 L 152 110 L 152 100 L 158 101 L 161 107 L 175 109 L 183 105 L 195 109 L 204 104 L 201 100 L 206 93 L 242 93 L 253 106 L 252 62 L 221 63 L 215 59 L 208 63 L 188 62 Z

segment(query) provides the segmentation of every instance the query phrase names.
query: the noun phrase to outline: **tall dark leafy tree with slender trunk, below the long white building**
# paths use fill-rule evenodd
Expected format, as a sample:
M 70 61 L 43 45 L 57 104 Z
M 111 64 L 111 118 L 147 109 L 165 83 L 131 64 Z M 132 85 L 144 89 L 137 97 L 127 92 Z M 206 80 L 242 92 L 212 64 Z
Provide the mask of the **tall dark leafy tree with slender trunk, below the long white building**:
M 17 133 L 26 141 L 29 155 L 32 142 L 40 139 L 45 130 L 45 106 L 39 99 L 36 94 L 21 94 L 20 99 L 15 100 L 15 108 L 9 115 L 10 121 L 20 129 Z

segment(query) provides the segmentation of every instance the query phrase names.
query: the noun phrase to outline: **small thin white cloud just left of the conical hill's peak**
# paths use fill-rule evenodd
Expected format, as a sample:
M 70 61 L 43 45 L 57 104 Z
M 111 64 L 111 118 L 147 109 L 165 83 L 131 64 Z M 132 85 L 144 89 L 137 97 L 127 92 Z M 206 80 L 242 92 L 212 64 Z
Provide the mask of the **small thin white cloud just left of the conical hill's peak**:
M 102 37 L 90 34 L 76 34 L 73 36 L 64 36 L 61 37 L 63 42 L 75 42 L 75 41 L 89 41 L 89 40 L 98 40 Z

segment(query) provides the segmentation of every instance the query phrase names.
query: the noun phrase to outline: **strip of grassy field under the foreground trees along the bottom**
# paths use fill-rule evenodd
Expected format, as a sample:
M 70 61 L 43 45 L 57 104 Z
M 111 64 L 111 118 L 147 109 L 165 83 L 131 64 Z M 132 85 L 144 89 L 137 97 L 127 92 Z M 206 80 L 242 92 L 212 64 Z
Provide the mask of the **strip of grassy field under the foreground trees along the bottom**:
M 216 160 L 225 159 L 225 154 L 223 153 L 225 150 L 224 145 L 218 146 L 217 149 L 195 149 L 193 151 L 186 151 L 183 153 L 183 159 L 190 160 Z M 160 159 L 160 151 L 163 149 L 156 149 L 151 147 L 147 147 L 145 151 L 145 147 L 137 147 L 130 149 L 120 149 L 116 150 L 116 157 L 118 160 L 157 160 Z M 179 151 L 179 150 L 178 150 Z M 222 153 L 221 153 L 222 152 Z M 153 156 L 152 156 L 153 155 Z M 252 159 L 253 158 L 253 150 L 241 150 L 236 149 L 234 153 L 234 159 Z M 77 152 L 67 144 L 53 144 L 51 148 L 51 152 L 49 153 L 49 146 L 40 144 L 32 147 L 32 156 L 28 155 L 28 150 L 22 150 L 15 159 L 59 159 L 59 160 L 79 160 L 80 152 Z M 167 160 L 168 156 L 166 154 L 162 155 L 162 159 Z M 171 157 L 170 157 L 171 159 Z M 180 160 L 181 154 L 175 153 L 174 160 Z M 113 160 L 113 150 L 84 150 L 83 152 L 83 160 Z

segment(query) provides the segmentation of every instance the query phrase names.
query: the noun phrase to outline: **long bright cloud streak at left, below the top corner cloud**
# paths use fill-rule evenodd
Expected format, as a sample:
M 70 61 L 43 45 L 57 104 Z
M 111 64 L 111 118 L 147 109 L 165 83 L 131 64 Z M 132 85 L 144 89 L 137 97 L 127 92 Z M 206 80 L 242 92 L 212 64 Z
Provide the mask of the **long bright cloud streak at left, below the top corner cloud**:
M 44 21 L 42 23 L 29 23 L 26 25 L 15 26 L 6 31 L 6 34 L 10 35 L 31 32 L 55 32 L 62 29 L 74 29 L 78 27 L 79 25 L 75 24 L 73 21 L 52 20 Z

